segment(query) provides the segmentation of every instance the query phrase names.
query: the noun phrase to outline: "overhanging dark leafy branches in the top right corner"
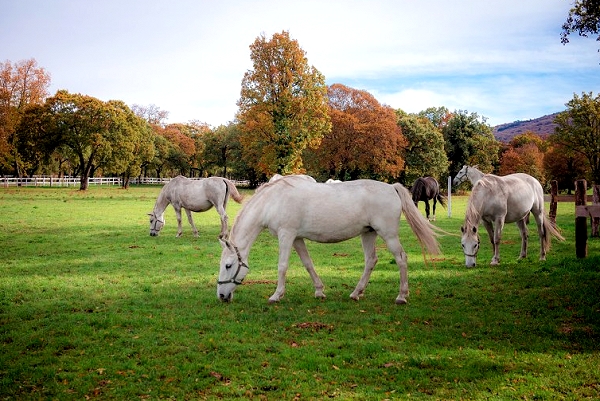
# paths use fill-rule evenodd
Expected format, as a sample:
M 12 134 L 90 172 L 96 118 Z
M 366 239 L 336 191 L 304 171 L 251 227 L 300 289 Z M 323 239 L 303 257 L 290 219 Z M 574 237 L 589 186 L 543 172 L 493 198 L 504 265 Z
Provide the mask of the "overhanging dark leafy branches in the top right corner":
M 576 0 L 562 26 L 560 41 L 567 44 L 572 33 L 588 37 L 588 34 L 598 35 L 599 30 L 600 0 Z M 600 41 L 600 35 L 596 40 Z

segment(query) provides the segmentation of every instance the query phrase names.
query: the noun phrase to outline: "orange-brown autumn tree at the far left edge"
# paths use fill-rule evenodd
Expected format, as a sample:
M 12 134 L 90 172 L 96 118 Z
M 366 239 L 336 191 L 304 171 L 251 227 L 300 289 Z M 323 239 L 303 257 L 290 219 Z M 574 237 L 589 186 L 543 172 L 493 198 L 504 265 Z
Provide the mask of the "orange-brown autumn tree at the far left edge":
M 50 74 L 35 59 L 0 62 L 0 173 L 21 175 L 15 148 L 15 129 L 28 106 L 41 105 L 48 96 Z

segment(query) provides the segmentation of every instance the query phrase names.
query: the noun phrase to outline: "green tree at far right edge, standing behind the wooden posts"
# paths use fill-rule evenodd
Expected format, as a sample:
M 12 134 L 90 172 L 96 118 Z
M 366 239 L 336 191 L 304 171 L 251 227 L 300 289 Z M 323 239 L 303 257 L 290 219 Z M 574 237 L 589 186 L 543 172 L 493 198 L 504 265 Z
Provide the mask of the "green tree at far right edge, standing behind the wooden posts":
M 567 110 L 554 119 L 557 124 L 550 141 L 568 151 L 585 157 L 589 164 L 589 178 L 600 183 L 600 96 L 593 93 L 575 94 Z

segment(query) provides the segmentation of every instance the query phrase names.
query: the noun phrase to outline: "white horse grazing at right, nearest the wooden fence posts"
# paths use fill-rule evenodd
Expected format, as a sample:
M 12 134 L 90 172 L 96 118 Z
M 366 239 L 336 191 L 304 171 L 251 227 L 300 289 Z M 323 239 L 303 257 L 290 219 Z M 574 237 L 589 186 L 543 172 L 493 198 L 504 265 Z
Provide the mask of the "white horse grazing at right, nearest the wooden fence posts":
M 469 168 L 470 170 L 470 168 Z M 564 238 L 546 218 L 544 212 L 544 192 L 539 181 L 523 173 L 499 177 L 485 174 L 473 187 L 467 203 L 462 231 L 462 248 L 465 264 L 473 267 L 479 251 L 478 226 L 482 222 L 494 248 L 491 265 L 500 263 L 500 239 L 504 223 L 517 223 L 521 232 L 521 258 L 527 257 L 527 217 L 533 214 L 540 237 L 540 260 L 546 260 L 550 249 L 551 235 Z

